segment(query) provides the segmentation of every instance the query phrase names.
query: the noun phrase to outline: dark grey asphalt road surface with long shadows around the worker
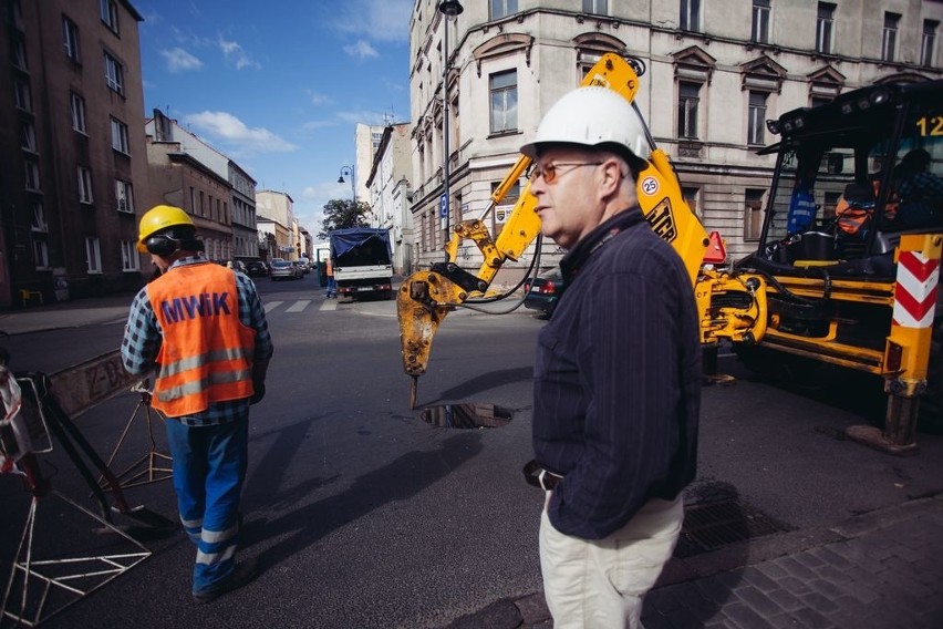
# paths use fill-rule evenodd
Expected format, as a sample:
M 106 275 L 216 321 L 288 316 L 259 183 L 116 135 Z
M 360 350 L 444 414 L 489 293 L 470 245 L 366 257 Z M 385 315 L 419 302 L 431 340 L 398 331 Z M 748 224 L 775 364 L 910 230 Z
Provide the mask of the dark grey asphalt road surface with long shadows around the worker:
M 392 301 L 325 300 L 313 276 L 258 285 L 277 353 L 267 398 L 252 412 L 241 553 L 258 556 L 263 574 L 196 606 L 193 548 L 179 535 L 148 542 L 151 558 L 44 626 L 443 627 L 495 600 L 538 591 L 541 495 L 524 483 L 520 467 L 531 453 L 530 372 L 543 322 L 529 311 L 450 314 L 419 383 L 419 409 L 411 410 Z M 64 367 L 113 349 L 120 337 L 121 323 L 112 323 L 11 337 L 7 344 L 28 364 L 62 359 Z M 739 378 L 704 391 L 692 498 L 719 487 L 780 529 L 801 529 L 943 491 L 943 437 L 920 435 L 921 454 L 911 458 L 840 439 L 862 414 L 880 415 L 880 398 L 867 394 L 867 383 L 823 380 L 797 393 L 754 381 L 733 360 L 721 368 Z M 419 419 L 422 408 L 458 401 L 498 404 L 514 419 L 479 430 Z M 123 394 L 76 423 L 107 454 L 136 403 Z M 146 451 L 144 423 L 136 422 L 118 460 Z M 155 435 L 159 447 L 159 425 Z M 63 494 L 93 504 L 60 451 L 44 465 Z M 175 516 L 167 482 L 127 494 Z M 9 476 L 0 477 L 0 501 L 6 578 L 28 501 Z M 63 515 L 55 501 L 40 503 L 38 555 L 111 543 L 85 535 L 81 518 Z

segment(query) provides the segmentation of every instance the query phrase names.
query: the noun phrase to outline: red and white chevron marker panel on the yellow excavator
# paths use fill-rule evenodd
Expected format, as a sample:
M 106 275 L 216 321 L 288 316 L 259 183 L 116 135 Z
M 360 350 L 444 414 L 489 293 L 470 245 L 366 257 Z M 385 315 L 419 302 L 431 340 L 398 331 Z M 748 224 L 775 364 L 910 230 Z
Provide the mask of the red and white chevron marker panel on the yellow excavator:
M 901 251 L 894 289 L 894 324 L 929 328 L 936 308 L 940 260 L 920 251 Z

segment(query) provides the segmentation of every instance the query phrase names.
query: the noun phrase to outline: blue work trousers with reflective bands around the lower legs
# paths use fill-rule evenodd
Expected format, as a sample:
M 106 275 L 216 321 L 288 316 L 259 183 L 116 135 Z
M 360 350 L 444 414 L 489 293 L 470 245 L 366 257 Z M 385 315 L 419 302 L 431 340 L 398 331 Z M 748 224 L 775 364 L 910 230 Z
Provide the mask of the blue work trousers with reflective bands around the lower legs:
M 236 568 L 249 419 L 197 427 L 173 419 L 165 423 L 180 522 L 197 546 L 193 591 L 205 594 L 224 584 Z

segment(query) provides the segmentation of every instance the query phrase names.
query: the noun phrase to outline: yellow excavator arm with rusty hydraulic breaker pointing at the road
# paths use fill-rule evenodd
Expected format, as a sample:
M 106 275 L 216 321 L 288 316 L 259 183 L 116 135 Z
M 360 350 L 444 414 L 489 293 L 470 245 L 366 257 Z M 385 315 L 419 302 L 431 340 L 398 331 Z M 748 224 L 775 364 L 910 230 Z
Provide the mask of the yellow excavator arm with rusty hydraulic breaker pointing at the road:
M 621 94 L 632 103 L 635 114 L 645 126 L 633 102 L 639 89 L 639 72 L 631 62 L 615 54 L 604 54 L 587 73 L 582 85 L 601 85 Z M 638 178 L 639 205 L 653 229 L 671 243 L 682 257 L 694 282 L 708 245 L 707 234 L 684 200 L 681 184 L 667 155 L 655 146 L 651 135 L 649 144 L 651 155 Z M 436 262 L 429 270 L 413 274 L 400 288 L 396 312 L 400 319 L 403 370 L 413 379 L 411 408 L 416 405 L 418 377 L 426 371 L 432 341 L 443 320 L 469 298 L 485 296 L 505 261 L 519 259 L 540 233 L 540 217 L 535 212 L 537 199 L 530 194 L 529 184 L 497 240 L 491 238 L 484 220 L 520 181 L 530 163 L 529 157 L 521 155 L 491 194 L 490 203 L 481 216 L 455 225 L 446 245 L 447 259 L 444 262 Z M 481 252 L 483 262 L 475 274 L 456 262 L 458 247 L 464 240 L 474 241 Z

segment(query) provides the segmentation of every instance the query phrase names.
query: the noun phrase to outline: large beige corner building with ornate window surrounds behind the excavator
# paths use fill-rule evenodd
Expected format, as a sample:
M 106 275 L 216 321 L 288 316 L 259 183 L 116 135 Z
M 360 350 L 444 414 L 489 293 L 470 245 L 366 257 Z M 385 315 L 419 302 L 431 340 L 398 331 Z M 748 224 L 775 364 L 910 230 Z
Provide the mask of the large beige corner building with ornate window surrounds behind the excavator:
M 419 267 L 444 259 L 444 124 L 454 225 L 480 216 L 543 113 L 605 52 L 644 69 L 635 101 L 692 208 L 733 256 L 753 250 L 759 236 L 774 157 L 756 152 L 776 142 L 766 120 L 863 85 L 943 76 L 939 0 L 465 1 L 454 21 L 438 6 L 416 0 L 410 22 Z M 525 184 L 489 215 L 493 234 Z M 547 245 L 541 266 L 562 254 Z M 458 262 L 477 268 L 477 248 L 466 243 Z M 499 279 L 529 262 L 527 255 L 506 264 Z

